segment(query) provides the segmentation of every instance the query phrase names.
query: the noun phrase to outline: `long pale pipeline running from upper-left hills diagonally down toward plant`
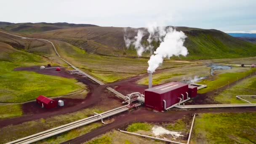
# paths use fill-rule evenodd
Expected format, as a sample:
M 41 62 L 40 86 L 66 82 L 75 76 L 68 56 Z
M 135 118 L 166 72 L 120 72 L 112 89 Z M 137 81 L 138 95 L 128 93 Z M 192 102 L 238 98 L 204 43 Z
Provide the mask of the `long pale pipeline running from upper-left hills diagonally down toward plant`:
M 3 32 L 3 31 L 0 31 L 0 32 Z M 76 69 L 78 72 L 80 72 L 80 73 L 86 75 L 86 76 L 89 77 L 91 80 L 95 81 L 96 83 L 98 83 L 98 84 L 100 84 L 100 85 L 105 85 L 105 84 L 102 83 L 101 81 L 97 80 L 96 78 L 92 77 L 91 75 L 88 75 L 87 73 L 85 73 L 85 72 L 83 72 L 82 70 L 78 69 L 78 68 L 75 67 L 74 65 L 70 64 L 68 61 L 66 61 L 66 60 L 64 60 L 63 58 L 61 58 L 61 56 L 59 55 L 58 51 L 56 50 L 54 44 L 53 44 L 51 41 L 45 40 L 45 39 L 21 37 L 21 36 L 19 36 L 19 35 L 13 35 L 13 34 L 10 34 L 10 33 L 7 33 L 7 32 L 3 32 L 3 33 L 8 34 L 8 35 L 12 35 L 12 36 L 16 36 L 16 37 L 20 37 L 20 38 L 22 38 L 22 39 L 28 39 L 28 40 L 43 40 L 43 41 L 46 41 L 46 42 L 48 42 L 48 43 L 51 43 L 51 45 L 52 45 L 53 48 L 54 48 L 54 51 L 56 52 L 56 54 L 57 54 L 58 56 L 56 56 L 56 57 L 49 57 L 49 59 L 61 59 L 61 60 L 65 61 L 67 64 L 69 64 L 73 69 Z M 115 95 L 116 95 L 118 98 L 120 98 L 120 99 L 125 99 L 125 96 L 124 96 L 123 94 L 117 92 L 115 89 L 110 88 L 110 87 L 107 87 L 107 89 L 108 89 L 109 91 L 111 91 L 112 93 L 115 93 Z

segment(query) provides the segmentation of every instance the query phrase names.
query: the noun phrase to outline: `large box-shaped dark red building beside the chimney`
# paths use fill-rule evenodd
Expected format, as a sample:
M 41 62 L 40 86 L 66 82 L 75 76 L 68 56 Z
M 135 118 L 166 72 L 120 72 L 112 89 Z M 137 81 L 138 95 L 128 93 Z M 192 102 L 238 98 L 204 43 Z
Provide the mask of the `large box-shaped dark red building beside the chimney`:
M 155 109 L 157 111 L 164 111 L 164 102 L 166 107 L 170 107 L 180 101 L 178 98 L 187 98 L 188 85 L 185 83 L 171 82 L 159 85 L 145 90 L 145 107 Z

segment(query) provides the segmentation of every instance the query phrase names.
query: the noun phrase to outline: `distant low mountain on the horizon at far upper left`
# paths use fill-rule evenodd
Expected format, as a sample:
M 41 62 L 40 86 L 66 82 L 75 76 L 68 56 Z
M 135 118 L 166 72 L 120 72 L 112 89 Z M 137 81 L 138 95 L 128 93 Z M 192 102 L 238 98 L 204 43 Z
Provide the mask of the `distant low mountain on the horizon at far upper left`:
M 69 24 L 66 22 L 63 22 L 63 23 L 40 22 L 40 23 L 18 23 L 18 24 L 0 22 L 0 24 L 1 23 L 3 23 L 3 26 L 5 24 L 5 27 L 3 27 L 2 29 L 9 32 L 17 32 L 17 33 L 45 32 L 50 30 L 68 29 L 68 28 L 74 28 L 74 27 L 98 27 L 93 24 Z

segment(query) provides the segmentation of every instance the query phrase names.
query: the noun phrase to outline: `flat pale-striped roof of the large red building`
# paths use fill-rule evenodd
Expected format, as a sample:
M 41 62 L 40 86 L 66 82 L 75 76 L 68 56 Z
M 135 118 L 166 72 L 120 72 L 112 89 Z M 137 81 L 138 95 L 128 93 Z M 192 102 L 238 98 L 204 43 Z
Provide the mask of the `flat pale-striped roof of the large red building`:
M 145 91 L 151 91 L 154 93 L 162 94 L 162 93 L 166 93 L 168 91 L 172 91 L 177 88 L 184 87 L 185 85 L 188 85 L 188 84 L 179 83 L 179 82 L 171 82 L 171 83 L 165 83 L 163 85 L 158 85 L 156 87 L 146 89 Z

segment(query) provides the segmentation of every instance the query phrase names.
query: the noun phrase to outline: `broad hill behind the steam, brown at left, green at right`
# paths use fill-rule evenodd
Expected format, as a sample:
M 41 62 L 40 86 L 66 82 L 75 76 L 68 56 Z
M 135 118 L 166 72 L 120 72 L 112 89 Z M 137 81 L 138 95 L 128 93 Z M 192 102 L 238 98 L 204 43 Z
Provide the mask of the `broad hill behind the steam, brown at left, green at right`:
M 30 25 L 38 27 L 38 24 Z M 60 29 L 46 29 L 43 31 L 24 29 L 21 32 L 20 30 L 11 30 L 11 27 L 14 26 L 17 27 L 16 29 L 21 29 L 19 25 L 11 25 L 3 29 L 21 34 L 27 33 L 26 36 L 30 37 L 63 41 L 81 48 L 88 53 L 107 56 L 137 56 L 133 47 L 126 48 L 125 46 L 125 30 L 123 27 L 81 27 L 80 25 L 65 25 L 68 28 L 61 27 Z M 190 27 L 173 28 L 183 31 L 187 35 L 184 46 L 189 51 L 187 57 L 176 57 L 175 59 L 219 59 L 256 56 L 255 44 L 232 37 L 219 30 Z M 139 29 L 143 30 L 145 28 L 127 27 L 125 29 L 129 37 L 134 37 Z M 148 36 L 149 34 L 145 31 L 141 43 L 147 45 Z M 154 47 L 157 48 L 159 44 L 156 41 Z M 149 52 L 143 55 L 143 57 L 149 56 Z

